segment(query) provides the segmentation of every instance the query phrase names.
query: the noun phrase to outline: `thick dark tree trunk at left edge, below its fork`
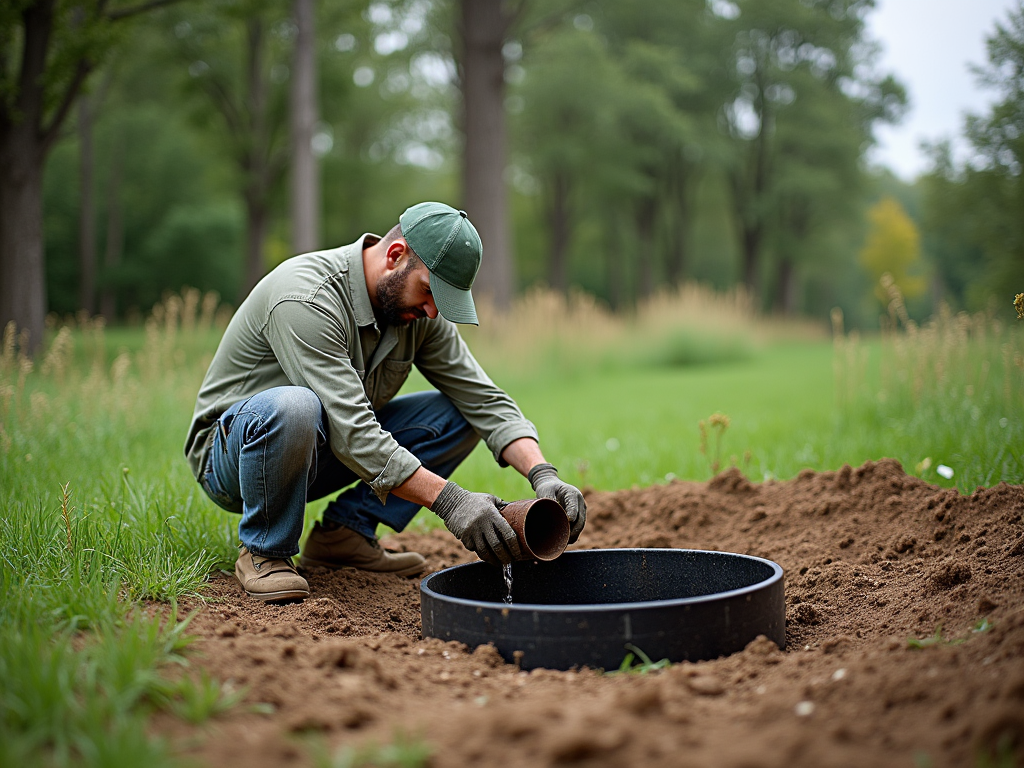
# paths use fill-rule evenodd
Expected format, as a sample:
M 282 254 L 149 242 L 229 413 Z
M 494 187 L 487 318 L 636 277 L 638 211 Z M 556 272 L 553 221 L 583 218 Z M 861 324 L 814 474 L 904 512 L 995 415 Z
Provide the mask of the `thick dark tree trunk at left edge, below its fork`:
M 28 331 L 39 348 L 46 321 L 43 253 L 43 158 L 33 126 L 0 133 L 0 327 Z

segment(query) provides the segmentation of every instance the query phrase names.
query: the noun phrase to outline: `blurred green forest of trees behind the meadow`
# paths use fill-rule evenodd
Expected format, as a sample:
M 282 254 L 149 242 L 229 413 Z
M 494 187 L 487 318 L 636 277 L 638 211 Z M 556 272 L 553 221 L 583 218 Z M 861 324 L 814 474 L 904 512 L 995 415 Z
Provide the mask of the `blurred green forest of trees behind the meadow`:
M 871 328 L 885 272 L 919 318 L 1009 316 L 1024 285 L 1022 8 L 989 38 L 973 152 L 936 144 L 907 183 L 865 162 L 907 103 L 865 0 L 14 3 L 0 157 L 40 6 L 56 315 L 138 323 L 182 286 L 237 304 L 292 254 L 383 232 L 425 199 L 476 221 L 477 292 L 500 307 L 547 285 L 628 312 L 695 281 Z M 19 260 L 5 249 L 4 296 L 34 290 Z

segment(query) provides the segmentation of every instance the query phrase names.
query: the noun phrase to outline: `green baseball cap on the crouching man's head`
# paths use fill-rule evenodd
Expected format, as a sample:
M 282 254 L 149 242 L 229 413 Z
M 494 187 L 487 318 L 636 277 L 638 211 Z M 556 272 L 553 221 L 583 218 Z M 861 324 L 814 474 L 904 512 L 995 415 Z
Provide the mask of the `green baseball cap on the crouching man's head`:
M 398 219 L 401 237 L 430 270 L 437 311 L 452 323 L 480 325 L 469 289 L 480 269 L 483 244 L 465 211 L 418 203 Z

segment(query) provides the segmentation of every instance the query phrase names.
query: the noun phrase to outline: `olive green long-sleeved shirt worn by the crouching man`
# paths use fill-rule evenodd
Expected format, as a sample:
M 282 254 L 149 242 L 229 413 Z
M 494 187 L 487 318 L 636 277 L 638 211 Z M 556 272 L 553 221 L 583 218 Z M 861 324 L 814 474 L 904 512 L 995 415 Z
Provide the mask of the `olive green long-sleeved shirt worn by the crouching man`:
M 384 502 L 420 461 L 377 421 L 415 364 L 447 395 L 495 459 L 537 428 L 483 372 L 455 325 L 420 318 L 381 329 L 355 243 L 288 259 L 253 289 L 231 317 L 196 399 L 185 457 L 199 478 L 216 421 L 239 400 L 271 387 L 311 389 L 324 403 L 331 450 Z

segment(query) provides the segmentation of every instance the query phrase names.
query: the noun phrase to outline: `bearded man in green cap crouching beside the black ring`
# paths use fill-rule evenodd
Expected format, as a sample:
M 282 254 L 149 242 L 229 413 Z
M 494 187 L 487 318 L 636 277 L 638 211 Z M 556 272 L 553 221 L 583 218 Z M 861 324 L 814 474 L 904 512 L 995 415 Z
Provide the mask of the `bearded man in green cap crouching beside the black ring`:
M 249 595 L 309 594 L 291 559 L 306 502 L 356 481 L 328 503 L 300 565 L 418 574 L 424 558 L 382 549 L 376 530 L 401 530 L 421 506 L 483 560 L 514 560 L 504 502 L 446 481 L 481 437 L 538 498 L 565 508 L 570 541 L 580 537 L 583 495 L 545 461 L 535 426 L 453 325 L 477 325 L 470 288 L 482 252 L 463 211 L 421 203 L 383 239 L 289 259 L 239 307 L 185 456 L 207 495 L 242 515 L 234 573 Z M 413 365 L 438 391 L 395 397 Z

